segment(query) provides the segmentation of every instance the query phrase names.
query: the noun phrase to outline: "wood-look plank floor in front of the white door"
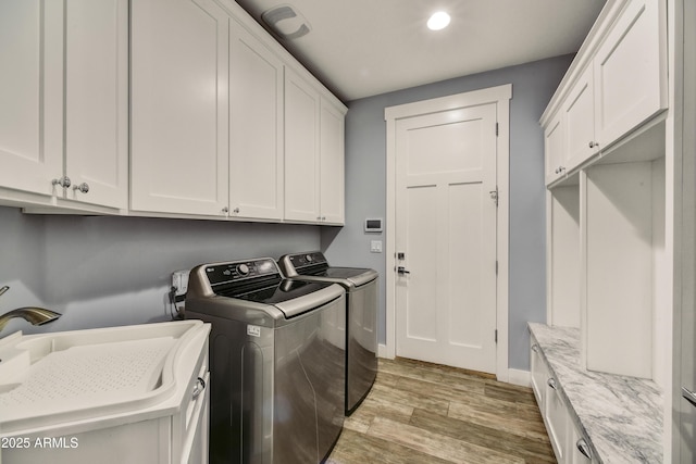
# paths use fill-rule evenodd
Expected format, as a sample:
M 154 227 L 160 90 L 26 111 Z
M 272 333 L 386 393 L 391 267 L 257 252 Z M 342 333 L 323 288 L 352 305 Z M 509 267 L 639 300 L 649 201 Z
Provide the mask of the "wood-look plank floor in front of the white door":
M 328 464 L 555 463 L 532 389 L 418 361 L 380 360 Z

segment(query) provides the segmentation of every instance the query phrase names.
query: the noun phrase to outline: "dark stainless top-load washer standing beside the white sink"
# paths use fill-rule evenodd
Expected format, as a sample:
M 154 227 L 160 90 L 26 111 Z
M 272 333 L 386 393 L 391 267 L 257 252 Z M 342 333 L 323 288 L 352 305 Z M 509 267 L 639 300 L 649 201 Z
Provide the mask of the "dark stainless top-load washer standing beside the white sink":
M 345 290 L 270 258 L 191 269 L 186 318 L 212 325 L 210 462 L 324 460 L 345 417 Z

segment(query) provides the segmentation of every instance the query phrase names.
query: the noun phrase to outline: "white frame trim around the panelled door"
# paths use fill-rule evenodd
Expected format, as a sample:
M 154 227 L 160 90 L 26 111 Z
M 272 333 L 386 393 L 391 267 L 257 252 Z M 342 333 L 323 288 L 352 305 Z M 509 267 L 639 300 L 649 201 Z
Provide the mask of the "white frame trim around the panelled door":
M 509 167 L 510 99 L 512 84 L 474 90 L 430 100 L 417 101 L 384 110 L 387 131 L 386 151 L 386 342 L 378 347 L 381 358 L 396 356 L 396 123 L 399 120 L 459 108 L 496 103 L 498 137 L 496 140 L 498 186 L 497 238 L 498 279 L 496 284 L 496 376 L 508 381 L 508 269 L 509 269 Z M 492 128 L 493 130 L 494 128 Z M 493 264 L 492 264 L 493 265 Z

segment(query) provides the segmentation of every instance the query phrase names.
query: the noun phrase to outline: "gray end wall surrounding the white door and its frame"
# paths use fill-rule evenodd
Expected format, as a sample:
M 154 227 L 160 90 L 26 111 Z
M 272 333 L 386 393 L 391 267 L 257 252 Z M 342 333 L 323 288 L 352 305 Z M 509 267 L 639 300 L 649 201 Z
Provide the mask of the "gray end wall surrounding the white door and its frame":
M 322 247 L 334 264 L 386 272 L 384 253 L 370 252 L 365 217 L 386 217 L 386 125 L 384 109 L 402 103 L 512 84 L 510 101 L 510 288 L 509 366 L 529 371 L 526 323 L 546 319 L 544 141 L 538 120 L 572 61 L 572 55 L 348 103 L 346 118 L 346 226 L 322 231 Z M 384 249 L 386 249 L 386 243 Z M 384 278 L 380 341 L 386 339 Z

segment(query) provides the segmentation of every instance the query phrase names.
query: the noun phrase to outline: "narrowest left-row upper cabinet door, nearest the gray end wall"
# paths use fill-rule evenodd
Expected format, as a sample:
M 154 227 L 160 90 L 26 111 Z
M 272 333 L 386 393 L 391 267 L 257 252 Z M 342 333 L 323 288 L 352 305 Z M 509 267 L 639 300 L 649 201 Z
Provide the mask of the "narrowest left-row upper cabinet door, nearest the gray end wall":
M 321 221 L 345 221 L 344 114 L 322 99 L 321 108 Z

